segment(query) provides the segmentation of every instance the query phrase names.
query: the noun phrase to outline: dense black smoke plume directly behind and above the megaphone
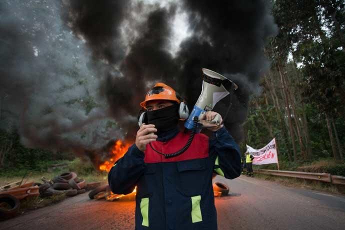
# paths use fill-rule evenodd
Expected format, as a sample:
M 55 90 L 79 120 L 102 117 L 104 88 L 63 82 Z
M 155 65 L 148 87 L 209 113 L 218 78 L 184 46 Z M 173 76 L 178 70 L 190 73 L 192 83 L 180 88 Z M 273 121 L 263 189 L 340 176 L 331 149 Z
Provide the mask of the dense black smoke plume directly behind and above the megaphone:
M 183 67 L 178 86 L 194 104 L 201 88 L 197 79 L 200 68 L 233 79 L 239 88 L 233 96 L 217 103 L 214 110 L 226 116 L 225 126 L 240 140 L 249 93 L 258 90 L 259 78 L 269 67 L 263 55 L 265 41 L 277 33 L 269 4 L 265 0 L 183 2 L 195 35 L 181 44 L 177 58 Z

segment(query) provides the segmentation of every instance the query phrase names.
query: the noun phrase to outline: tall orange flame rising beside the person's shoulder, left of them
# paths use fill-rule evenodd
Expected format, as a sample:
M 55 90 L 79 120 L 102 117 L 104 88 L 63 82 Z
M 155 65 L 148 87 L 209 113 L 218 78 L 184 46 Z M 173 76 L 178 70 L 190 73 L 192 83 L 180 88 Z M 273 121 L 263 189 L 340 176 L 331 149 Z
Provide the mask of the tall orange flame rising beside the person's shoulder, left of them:
M 127 152 L 128 148 L 130 147 L 130 143 L 125 143 L 122 140 L 116 140 L 114 145 L 111 147 L 110 154 L 111 157 L 109 160 L 105 160 L 102 164 L 99 165 L 99 170 L 101 171 L 110 171 L 110 168 L 113 164 L 121 158 L 124 153 Z

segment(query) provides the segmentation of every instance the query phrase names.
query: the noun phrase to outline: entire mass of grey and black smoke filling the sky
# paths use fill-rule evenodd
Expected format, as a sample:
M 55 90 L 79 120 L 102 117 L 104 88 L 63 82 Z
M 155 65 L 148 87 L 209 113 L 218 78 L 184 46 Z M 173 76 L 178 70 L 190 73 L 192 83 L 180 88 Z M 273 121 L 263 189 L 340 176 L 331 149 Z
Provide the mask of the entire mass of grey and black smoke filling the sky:
M 215 110 L 240 140 L 249 93 L 269 66 L 265 40 L 277 31 L 269 4 L 156 2 L 1 1 L 1 127 L 12 123 L 27 146 L 94 158 L 87 149 L 134 137 L 138 103 L 154 82 L 170 84 L 191 107 L 201 68 L 209 68 L 239 85 Z M 181 12 L 190 35 L 172 52 L 172 22 Z

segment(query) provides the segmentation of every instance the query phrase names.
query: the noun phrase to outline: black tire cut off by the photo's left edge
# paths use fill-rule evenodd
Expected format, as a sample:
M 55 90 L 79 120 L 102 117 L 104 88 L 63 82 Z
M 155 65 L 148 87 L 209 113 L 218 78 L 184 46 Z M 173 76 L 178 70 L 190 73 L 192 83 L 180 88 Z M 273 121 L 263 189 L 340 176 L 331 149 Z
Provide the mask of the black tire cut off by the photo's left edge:
M 13 195 L 0 194 L 0 220 L 11 218 L 18 214 L 20 202 Z

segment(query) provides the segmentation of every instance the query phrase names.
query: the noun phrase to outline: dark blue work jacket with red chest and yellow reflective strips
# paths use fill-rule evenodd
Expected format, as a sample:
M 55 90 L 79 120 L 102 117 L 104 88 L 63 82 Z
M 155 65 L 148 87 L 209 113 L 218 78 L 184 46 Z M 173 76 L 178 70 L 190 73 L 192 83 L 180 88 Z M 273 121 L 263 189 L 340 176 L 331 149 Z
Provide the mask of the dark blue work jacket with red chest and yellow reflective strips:
M 189 133 L 177 129 L 151 142 L 160 152 L 182 148 Z M 136 187 L 135 229 L 217 229 L 212 172 L 239 176 L 239 147 L 222 127 L 208 138 L 197 133 L 182 154 L 165 158 L 146 145 L 133 144 L 108 174 L 112 192 L 127 194 Z

